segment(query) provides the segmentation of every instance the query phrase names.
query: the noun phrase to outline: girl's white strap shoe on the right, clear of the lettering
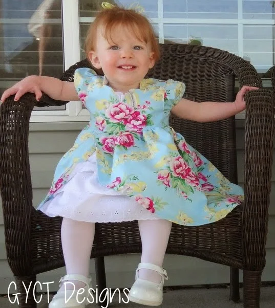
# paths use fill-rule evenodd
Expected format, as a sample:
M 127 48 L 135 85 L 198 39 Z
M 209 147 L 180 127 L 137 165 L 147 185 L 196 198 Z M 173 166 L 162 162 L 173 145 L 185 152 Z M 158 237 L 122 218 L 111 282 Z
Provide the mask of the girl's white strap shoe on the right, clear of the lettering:
M 153 270 L 160 274 L 161 282 L 156 283 L 138 277 L 138 271 L 141 269 Z M 163 295 L 163 283 L 164 279 L 167 280 L 168 276 L 166 271 L 151 263 L 139 263 L 136 270 L 136 281 L 133 284 L 130 293 L 129 300 L 138 304 L 147 306 L 159 306 L 162 303 Z

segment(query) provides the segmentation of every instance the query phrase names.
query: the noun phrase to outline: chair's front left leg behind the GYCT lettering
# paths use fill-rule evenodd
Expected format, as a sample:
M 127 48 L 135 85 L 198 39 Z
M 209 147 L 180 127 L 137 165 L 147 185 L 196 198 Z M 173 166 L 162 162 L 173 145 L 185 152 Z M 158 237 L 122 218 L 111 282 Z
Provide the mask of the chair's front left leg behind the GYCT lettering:
M 14 303 L 18 304 L 19 302 L 19 308 L 36 308 L 36 298 L 33 296 L 33 287 L 36 282 L 36 275 L 25 277 L 14 276 L 14 278 L 16 284 L 16 291 L 14 293 L 19 293 L 16 296 L 18 300 L 16 300 L 16 298 L 13 299 L 13 301 L 16 300 Z

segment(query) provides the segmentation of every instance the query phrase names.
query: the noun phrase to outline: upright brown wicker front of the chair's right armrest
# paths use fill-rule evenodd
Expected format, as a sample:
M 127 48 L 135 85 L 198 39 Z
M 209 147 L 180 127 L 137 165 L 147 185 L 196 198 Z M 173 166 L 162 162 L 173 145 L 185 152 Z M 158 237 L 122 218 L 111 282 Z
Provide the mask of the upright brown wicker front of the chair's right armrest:
M 248 92 L 245 120 L 243 256 L 245 269 L 265 266 L 274 135 L 274 95 Z

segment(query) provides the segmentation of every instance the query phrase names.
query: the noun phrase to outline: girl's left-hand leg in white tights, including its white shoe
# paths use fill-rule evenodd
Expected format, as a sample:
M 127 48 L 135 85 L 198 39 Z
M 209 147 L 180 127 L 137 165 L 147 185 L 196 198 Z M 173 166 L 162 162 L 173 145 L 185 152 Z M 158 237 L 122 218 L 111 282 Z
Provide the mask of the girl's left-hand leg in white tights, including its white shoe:
M 49 308 L 84 308 L 88 304 L 91 282 L 89 268 L 94 233 L 94 223 L 63 219 L 61 241 L 67 275 L 61 278 L 60 289 L 53 297 Z M 84 288 L 84 291 L 77 297 L 77 290 L 80 288 Z

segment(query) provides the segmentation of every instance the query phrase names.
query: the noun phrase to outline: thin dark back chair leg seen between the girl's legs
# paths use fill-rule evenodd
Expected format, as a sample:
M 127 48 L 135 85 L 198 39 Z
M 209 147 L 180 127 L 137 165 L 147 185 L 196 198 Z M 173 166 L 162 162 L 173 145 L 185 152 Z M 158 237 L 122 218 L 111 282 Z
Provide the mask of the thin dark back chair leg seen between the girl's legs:
M 104 295 L 104 292 L 109 292 L 106 289 L 106 274 L 105 274 L 105 263 L 104 257 L 95 258 L 95 274 L 96 274 L 96 283 L 98 288 L 99 300 L 98 305 L 107 307 L 108 306 L 108 294 Z M 103 291 L 106 289 L 105 291 Z M 104 299 L 103 301 L 101 301 Z

